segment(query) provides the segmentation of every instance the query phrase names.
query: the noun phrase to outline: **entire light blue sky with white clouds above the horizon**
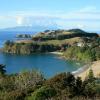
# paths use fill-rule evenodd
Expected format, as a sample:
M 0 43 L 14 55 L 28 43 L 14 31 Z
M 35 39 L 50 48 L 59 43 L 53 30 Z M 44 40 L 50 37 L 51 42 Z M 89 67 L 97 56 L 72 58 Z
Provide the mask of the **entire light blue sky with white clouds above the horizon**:
M 100 0 L 0 0 L 0 28 L 57 25 L 100 31 Z

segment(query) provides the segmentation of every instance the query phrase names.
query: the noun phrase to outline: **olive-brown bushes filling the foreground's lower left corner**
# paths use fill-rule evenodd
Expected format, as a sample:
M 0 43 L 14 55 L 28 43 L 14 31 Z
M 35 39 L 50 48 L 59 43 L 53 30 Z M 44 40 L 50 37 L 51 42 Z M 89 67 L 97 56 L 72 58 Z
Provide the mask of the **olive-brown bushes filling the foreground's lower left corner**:
M 44 81 L 42 74 L 36 71 L 0 75 L 0 100 L 24 100 L 40 88 Z

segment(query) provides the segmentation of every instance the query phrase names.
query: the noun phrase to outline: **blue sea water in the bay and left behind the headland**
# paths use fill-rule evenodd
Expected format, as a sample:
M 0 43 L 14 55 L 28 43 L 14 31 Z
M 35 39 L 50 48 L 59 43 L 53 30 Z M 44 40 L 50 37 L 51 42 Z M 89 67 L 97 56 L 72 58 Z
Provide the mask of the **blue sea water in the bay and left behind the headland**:
M 13 40 L 16 34 L 0 34 L 1 47 L 5 40 Z M 0 53 L 0 64 L 6 65 L 7 73 L 35 69 L 42 72 L 45 77 L 52 77 L 61 72 L 76 71 L 80 68 L 76 62 L 66 61 L 52 54 L 14 55 Z

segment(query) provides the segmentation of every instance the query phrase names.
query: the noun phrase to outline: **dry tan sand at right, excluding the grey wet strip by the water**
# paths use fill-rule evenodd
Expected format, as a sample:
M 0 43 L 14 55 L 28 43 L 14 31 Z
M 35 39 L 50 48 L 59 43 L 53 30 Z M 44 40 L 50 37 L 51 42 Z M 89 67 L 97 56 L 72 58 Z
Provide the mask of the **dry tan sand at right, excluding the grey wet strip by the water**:
M 88 75 L 90 69 L 93 70 L 95 77 L 100 77 L 100 60 L 93 62 L 93 64 L 90 67 L 88 67 L 82 73 L 76 74 L 75 76 L 79 76 L 82 78 L 82 80 L 84 80 L 85 77 Z

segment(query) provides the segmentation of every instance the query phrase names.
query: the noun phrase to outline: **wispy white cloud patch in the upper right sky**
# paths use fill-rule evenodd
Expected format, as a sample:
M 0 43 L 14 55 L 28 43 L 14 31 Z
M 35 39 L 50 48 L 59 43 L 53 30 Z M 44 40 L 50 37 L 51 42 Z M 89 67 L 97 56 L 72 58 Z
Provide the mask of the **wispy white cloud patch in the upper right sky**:
M 70 21 L 100 21 L 100 11 L 95 6 L 86 6 L 78 11 L 73 11 L 60 16 Z

